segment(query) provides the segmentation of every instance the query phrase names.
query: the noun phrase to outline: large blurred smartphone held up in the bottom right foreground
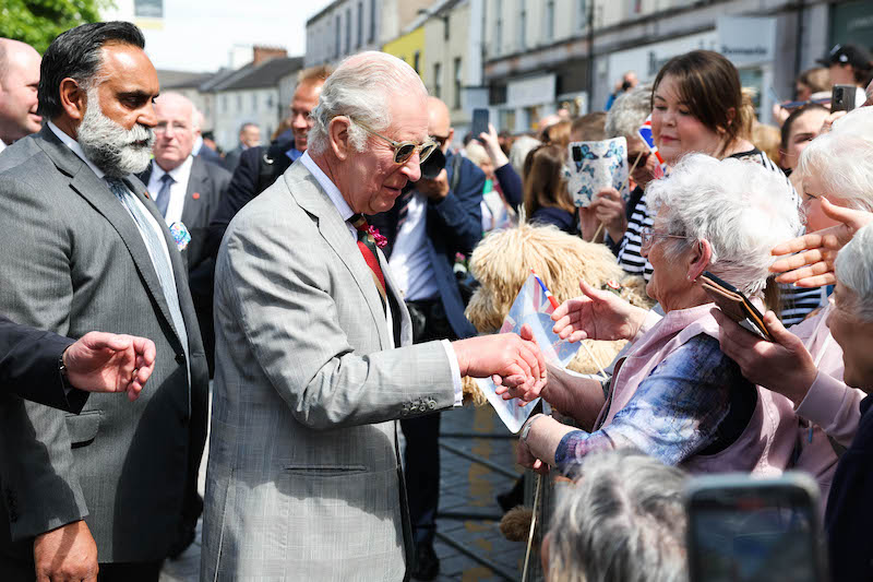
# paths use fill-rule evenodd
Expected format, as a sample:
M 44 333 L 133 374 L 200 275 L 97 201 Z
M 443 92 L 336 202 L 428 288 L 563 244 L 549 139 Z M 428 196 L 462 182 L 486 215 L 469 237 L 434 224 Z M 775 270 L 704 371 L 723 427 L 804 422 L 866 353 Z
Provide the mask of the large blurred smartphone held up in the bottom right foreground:
M 694 477 L 685 490 L 691 582 L 825 582 L 818 486 L 805 473 Z

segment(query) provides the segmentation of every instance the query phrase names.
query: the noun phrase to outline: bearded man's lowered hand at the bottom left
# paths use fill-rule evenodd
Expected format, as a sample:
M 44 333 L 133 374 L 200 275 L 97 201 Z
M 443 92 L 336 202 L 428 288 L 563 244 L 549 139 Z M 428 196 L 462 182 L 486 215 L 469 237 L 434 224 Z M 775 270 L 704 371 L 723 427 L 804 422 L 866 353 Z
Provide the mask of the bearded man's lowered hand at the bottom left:
M 96 582 L 97 544 L 84 521 L 51 530 L 34 539 L 37 582 Z

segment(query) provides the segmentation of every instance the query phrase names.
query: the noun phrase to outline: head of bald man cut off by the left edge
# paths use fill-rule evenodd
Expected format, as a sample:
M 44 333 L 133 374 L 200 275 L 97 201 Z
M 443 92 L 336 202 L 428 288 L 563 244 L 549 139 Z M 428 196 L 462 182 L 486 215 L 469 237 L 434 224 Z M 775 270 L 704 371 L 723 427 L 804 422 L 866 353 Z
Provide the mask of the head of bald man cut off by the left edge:
M 39 131 L 36 90 L 41 60 L 31 45 L 0 38 L 0 152 Z

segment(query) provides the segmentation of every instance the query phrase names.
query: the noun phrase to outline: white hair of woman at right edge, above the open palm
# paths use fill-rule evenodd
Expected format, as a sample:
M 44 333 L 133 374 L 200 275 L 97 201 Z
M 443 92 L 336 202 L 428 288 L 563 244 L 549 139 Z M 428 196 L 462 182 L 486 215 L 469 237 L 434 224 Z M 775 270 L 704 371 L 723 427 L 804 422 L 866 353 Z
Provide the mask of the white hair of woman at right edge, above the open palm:
M 856 109 L 838 121 L 803 149 L 792 179 L 802 189 L 805 176 L 816 176 L 824 191 L 813 193 L 873 211 L 873 107 Z

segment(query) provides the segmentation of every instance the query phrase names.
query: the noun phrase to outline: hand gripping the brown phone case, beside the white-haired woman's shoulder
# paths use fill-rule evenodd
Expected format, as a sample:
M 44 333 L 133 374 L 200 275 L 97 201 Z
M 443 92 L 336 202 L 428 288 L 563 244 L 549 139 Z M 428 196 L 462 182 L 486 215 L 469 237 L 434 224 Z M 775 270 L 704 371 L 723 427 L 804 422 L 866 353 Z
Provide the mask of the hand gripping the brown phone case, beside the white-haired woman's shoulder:
M 711 311 L 719 324 L 721 351 L 740 366 L 746 380 L 778 392 L 794 405 L 803 402 L 818 370 L 803 342 L 786 330 L 773 311 L 764 316 L 764 324 L 774 342 L 744 330 L 720 309 Z

